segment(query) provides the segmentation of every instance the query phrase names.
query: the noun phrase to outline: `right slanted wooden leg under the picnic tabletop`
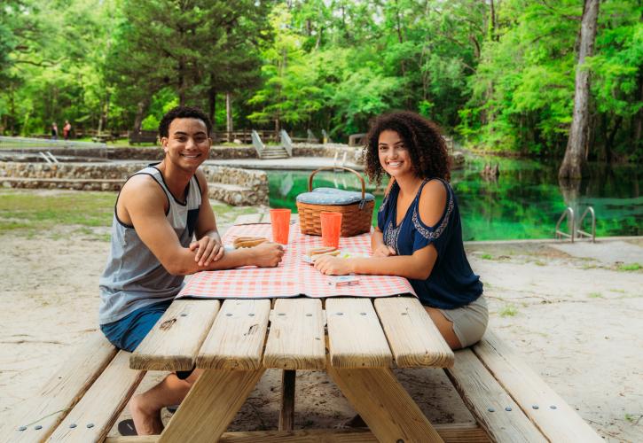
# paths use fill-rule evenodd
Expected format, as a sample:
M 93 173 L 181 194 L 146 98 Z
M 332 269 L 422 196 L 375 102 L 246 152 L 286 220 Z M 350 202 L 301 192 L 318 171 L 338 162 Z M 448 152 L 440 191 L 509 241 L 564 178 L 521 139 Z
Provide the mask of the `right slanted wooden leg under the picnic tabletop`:
M 443 441 L 392 369 L 326 370 L 380 441 Z

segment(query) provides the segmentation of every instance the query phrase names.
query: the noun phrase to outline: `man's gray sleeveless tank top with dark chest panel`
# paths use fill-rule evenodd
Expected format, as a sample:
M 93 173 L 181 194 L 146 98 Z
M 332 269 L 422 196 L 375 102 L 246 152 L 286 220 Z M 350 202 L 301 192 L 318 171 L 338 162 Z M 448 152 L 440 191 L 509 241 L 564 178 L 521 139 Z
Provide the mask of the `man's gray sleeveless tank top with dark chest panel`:
M 187 247 L 192 241 L 201 205 L 201 190 L 196 176 L 190 179 L 185 202 L 182 203 L 169 191 L 159 169 L 145 167 L 135 175 L 142 174 L 152 176 L 165 192 L 169 202 L 166 217 L 181 245 Z M 183 280 L 184 276 L 172 276 L 163 268 L 134 227 L 118 219 L 114 205 L 112 249 L 99 283 L 99 323 L 113 323 L 140 307 L 174 299 L 183 286 Z

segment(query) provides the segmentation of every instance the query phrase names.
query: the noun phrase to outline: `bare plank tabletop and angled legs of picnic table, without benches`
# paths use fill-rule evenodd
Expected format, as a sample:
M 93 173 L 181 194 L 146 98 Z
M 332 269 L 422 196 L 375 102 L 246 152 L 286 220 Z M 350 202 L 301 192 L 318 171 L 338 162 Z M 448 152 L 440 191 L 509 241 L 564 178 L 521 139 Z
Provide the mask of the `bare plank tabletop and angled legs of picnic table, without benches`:
M 414 296 L 176 299 L 129 367 L 205 369 L 159 441 L 219 439 L 266 369 L 284 369 L 286 397 L 294 371 L 325 370 L 380 441 L 443 441 L 392 368 L 453 360 Z M 280 427 L 292 431 L 293 400 L 284 403 Z

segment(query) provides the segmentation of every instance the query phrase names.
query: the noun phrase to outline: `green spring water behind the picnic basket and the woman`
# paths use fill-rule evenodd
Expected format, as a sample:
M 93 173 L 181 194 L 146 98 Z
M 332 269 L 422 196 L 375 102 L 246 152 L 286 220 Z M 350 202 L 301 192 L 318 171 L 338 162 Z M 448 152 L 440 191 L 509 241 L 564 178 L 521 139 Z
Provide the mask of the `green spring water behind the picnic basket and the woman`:
M 485 163 L 498 164 L 497 180 L 481 175 Z M 513 238 L 553 238 L 553 231 L 567 206 L 577 216 L 587 206 L 596 211 L 598 236 L 643 235 L 643 197 L 640 173 L 636 167 L 609 167 L 592 164 L 592 176 L 568 185 L 558 181 L 558 164 L 541 160 L 473 157 L 464 169 L 453 171 L 451 184 L 456 191 L 466 240 Z M 291 207 L 294 198 L 308 190 L 310 172 L 270 171 L 271 206 Z M 292 181 L 292 184 L 290 184 Z M 286 183 L 286 184 L 284 184 Z M 359 190 L 355 175 L 322 171 L 313 187 L 328 186 Z M 376 207 L 382 200 L 381 187 L 367 183 L 375 194 Z M 288 192 L 283 192 L 290 188 Z M 374 214 L 373 219 L 375 219 Z

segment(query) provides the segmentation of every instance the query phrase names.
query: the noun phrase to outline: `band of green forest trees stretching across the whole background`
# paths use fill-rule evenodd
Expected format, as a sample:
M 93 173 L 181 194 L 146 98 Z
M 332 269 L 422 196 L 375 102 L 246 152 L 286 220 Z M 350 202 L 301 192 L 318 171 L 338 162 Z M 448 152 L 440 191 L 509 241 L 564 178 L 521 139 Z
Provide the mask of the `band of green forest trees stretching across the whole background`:
M 0 134 L 51 122 L 328 131 L 411 109 L 479 149 L 561 158 L 591 0 L 3 0 Z M 599 0 L 594 2 L 598 8 Z M 643 160 L 643 6 L 602 0 L 585 159 Z M 579 72 L 580 72 L 579 71 Z

